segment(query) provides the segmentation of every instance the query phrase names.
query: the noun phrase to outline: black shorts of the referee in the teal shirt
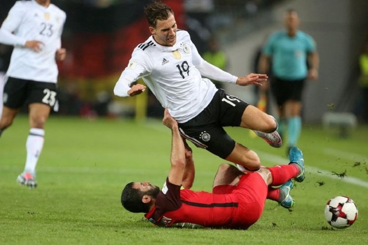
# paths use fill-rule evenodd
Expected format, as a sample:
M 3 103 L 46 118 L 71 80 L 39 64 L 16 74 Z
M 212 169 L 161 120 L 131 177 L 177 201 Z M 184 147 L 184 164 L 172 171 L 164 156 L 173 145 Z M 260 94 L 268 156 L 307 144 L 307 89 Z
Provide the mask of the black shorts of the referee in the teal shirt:
M 305 78 L 300 80 L 284 80 L 274 77 L 270 86 L 278 106 L 282 106 L 288 100 L 302 100 Z

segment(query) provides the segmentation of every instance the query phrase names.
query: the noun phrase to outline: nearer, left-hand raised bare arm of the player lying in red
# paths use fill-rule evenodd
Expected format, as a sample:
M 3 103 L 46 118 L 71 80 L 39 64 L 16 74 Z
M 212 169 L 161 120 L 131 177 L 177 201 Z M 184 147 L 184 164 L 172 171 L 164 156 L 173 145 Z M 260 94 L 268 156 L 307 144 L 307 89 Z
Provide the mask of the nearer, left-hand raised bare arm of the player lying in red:
M 185 147 L 179 132 L 179 126 L 176 120 L 171 117 L 168 110 L 165 109 L 162 123 L 171 129 L 171 168 L 168 174 L 169 182 L 174 185 L 181 185 L 183 182 L 185 169 Z

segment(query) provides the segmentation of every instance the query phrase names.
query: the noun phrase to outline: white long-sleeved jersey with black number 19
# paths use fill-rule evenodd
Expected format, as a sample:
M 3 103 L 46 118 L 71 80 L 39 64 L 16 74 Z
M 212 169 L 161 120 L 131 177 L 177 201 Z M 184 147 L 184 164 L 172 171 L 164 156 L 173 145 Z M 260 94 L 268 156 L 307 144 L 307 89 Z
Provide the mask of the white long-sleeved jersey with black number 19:
M 131 60 L 121 74 L 114 93 L 128 96 L 131 83 L 143 78 L 171 116 L 179 123 L 185 123 L 202 112 L 217 91 L 209 79 L 202 78 L 201 72 L 204 69 L 200 70 L 200 67 L 206 64 L 214 73 L 206 76 L 219 81 L 235 83 L 237 77 L 203 60 L 188 32 L 178 30 L 176 38 L 172 47 L 158 44 L 153 36 L 138 45 L 133 50 Z

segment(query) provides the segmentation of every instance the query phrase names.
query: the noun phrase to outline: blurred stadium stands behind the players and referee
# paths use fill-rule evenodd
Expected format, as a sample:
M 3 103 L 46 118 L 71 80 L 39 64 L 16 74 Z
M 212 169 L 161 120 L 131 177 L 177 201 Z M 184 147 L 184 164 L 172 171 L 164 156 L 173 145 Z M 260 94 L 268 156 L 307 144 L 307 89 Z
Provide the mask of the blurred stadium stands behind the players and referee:
M 14 0 L 1 0 L 0 20 Z M 149 35 L 142 9 L 149 0 L 53 0 L 67 21 L 62 44 L 67 58 L 59 64 L 60 114 L 87 117 L 159 117 L 162 108 L 151 95 L 117 98 L 112 89 L 131 51 Z M 331 110 L 356 110 L 360 99 L 358 56 L 368 35 L 366 0 L 166 0 L 178 26 L 190 32 L 201 53 L 211 36 L 228 55 L 228 71 L 253 72 L 255 56 L 267 35 L 282 28 L 285 9 L 294 8 L 301 29 L 310 33 L 320 54 L 320 77 L 304 95 L 304 122 L 320 123 Z M 1 46 L 0 69 L 6 71 L 10 47 Z M 224 85 L 233 94 L 256 103 L 254 88 Z M 137 109 L 138 108 L 138 109 Z M 148 110 L 147 110 L 148 109 Z

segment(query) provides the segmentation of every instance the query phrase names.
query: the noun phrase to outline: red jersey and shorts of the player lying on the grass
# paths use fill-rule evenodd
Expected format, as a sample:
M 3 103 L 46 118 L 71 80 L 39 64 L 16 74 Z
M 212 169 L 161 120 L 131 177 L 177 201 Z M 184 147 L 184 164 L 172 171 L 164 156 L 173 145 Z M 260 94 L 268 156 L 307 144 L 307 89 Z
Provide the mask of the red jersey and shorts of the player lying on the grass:
M 251 175 L 253 177 L 248 178 Z M 261 190 L 253 190 L 256 186 L 260 186 Z M 237 187 L 230 188 L 227 194 L 180 188 L 166 179 L 154 208 L 145 217 L 152 223 L 165 227 L 196 227 L 192 225 L 196 224 L 204 227 L 248 228 L 261 217 L 267 195 L 267 186 L 259 174 L 243 175 Z M 258 195 L 256 192 L 263 194 Z

